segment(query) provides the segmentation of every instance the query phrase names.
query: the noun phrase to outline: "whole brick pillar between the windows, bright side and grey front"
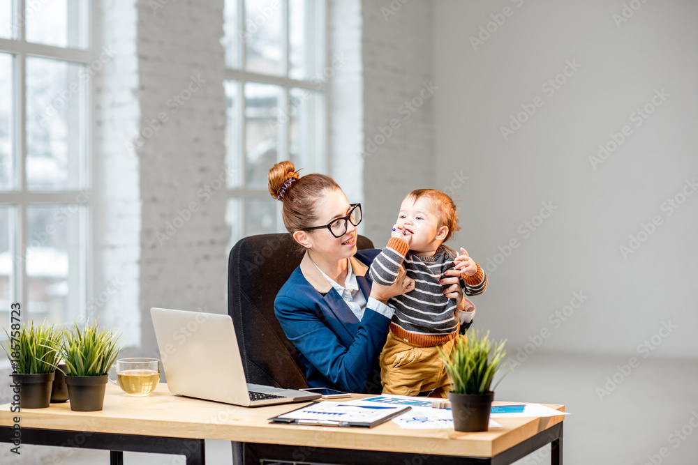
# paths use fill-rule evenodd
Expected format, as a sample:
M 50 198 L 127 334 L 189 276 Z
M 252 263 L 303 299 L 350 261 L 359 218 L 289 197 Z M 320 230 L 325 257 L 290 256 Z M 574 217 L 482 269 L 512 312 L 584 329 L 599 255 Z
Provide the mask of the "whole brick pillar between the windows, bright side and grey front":
M 223 0 L 105 1 L 103 16 L 91 310 L 147 356 L 151 307 L 227 312 Z

